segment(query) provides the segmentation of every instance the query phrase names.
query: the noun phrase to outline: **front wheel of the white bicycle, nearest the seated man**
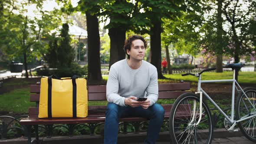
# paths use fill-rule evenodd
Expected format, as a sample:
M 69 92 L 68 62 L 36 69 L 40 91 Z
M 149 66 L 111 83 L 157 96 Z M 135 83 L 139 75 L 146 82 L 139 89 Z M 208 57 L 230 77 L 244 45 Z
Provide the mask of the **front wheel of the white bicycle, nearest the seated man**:
M 193 117 L 194 115 L 194 117 Z M 200 98 L 194 93 L 185 93 L 174 102 L 169 118 L 169 129 L 174 144 L 210 144 L 213 124 L 207 104 L 202 102 L 200 117 Z

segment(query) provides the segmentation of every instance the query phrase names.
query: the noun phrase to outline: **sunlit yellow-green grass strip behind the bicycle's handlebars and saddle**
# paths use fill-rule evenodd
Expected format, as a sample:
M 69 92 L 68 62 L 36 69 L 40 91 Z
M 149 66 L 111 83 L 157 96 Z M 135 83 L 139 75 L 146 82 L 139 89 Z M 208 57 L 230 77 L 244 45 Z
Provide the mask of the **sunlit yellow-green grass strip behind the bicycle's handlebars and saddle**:
M 197 82 L 197 77 L 192 75 L 181 76 L 181 74 L 164 75 L 167 79 L 171 80 L 184 80 L 184 82 Z M 201 77 L 202 80 L 214 79 L 233 79 L 233 72 L 204 72 Z M 158 80 L 159 81 L 159 80 Z M 239 83 L 256 83 L 256 72 L 239 72 Z

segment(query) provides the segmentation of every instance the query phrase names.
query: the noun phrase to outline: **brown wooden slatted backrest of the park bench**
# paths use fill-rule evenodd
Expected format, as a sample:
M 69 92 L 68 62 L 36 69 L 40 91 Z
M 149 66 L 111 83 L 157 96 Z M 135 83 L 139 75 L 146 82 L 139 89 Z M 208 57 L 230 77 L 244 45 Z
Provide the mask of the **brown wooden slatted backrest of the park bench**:
M 181 94 L 185 93 L 185 90 L 190 89 L 190 83 L 171 83 L 171 84 L 158 84 L 158 99 L 170 99 L 177 98 Z M 88 100 L 89 101 L 105 101 L 106 99 L 106 86 L 105 85 L 88 85 Z M 29 108 L 30 117 L 38 117 L 38 105 L 40 97 L 40 85 L 30 85 L 30 101 L 36 102 L 35 108 Z M 90 110 L 102 109 L 105 110 L 106 106 L 89 106 Z

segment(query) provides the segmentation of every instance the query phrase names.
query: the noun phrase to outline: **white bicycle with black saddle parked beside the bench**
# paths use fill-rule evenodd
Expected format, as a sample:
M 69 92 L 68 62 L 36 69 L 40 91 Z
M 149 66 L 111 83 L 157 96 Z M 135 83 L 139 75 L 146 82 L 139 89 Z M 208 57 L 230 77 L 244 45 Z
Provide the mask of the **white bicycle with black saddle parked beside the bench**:
M 234 131 L 236 124 L 240 131 L 250 141 L 256 142 L 256 88 L 242 89 L 236 82 L 235 71 L 243 67 L 242 64 L 228 64 L 226 68 L 233 69 L 233 79 L 201 80 L 203 72 L 215 70 L 204 69 L 199 73 L 186 73 L 198 77 L 197 92 L 184 93 L 179 96 L 171 108 L 169 128 L 172 142 L 175 144 L 211 144 L 213 135 L 213 121 L 203 95 L 223 114 L 224 125 L 228 131 Z M 233 82 L 231 115 L 227 115 L 201 88 L 201 83 Z M 236 101 L 236 114 L 234 114 L 235 89 L 239 92 Z M 186 112 L 184 112 L 186 111 Z M 236 115 L 236 119 L 234 119 Z

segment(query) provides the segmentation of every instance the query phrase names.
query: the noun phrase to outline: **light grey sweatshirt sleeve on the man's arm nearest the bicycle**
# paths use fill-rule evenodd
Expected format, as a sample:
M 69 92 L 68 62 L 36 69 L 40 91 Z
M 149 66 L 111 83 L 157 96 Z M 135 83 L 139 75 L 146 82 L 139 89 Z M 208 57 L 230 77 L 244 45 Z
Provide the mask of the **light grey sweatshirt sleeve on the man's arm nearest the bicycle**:
M 158 72 L 156 68 L 154 68 L 154 72 L 150 76 L 150 82 L 146 92 L 151 106 L 158 100 Z

